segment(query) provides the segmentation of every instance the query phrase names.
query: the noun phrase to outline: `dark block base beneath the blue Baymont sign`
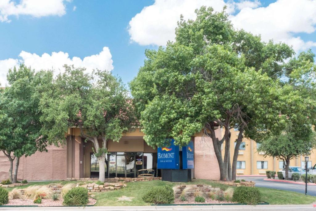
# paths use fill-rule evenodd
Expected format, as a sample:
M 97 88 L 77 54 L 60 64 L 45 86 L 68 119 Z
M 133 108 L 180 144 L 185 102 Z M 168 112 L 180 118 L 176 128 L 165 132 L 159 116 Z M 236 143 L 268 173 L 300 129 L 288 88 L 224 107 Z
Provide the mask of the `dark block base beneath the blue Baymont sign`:
M 161 169 L 162 181 L 191 182 L 191 169 Z

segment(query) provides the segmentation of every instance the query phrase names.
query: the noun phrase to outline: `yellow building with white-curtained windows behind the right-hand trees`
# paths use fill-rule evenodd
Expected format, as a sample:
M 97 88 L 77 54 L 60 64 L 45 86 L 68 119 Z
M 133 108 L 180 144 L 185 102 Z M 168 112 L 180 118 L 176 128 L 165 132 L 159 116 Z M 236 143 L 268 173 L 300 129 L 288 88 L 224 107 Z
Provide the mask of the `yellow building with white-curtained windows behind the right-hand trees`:
M 222 132 L 222 137 L 224 136 L 225 129 L 219 129 Z M 233 162 L 232 157 L 234 155 L 234 143 L 237 139 L 239 131 L 237 129 L 231 129 L 231 139 L 230 139 L 230 154 L 231 162 Z M 240 145 L 240 150 L 238 154 L 237 162 L 237 175 L 265 175 L 266 171 L 281 171 L 283 166 L 283 161 L 270 156 L 264 156 L 264 153 L 258 152 L 257 147 L 259 144 L 253 140 L 244 138 L 242 144 Z M 222 155 L 224 156 L 225 142 L 222 146 Z M 314 149 L 308 161 L 308 167 L 314 166 L 316 163 L 316 150 Z M 305 158 L 299 156 L 295 159 L 290 160 L 290 166 L 301 166 L 305 168 Z

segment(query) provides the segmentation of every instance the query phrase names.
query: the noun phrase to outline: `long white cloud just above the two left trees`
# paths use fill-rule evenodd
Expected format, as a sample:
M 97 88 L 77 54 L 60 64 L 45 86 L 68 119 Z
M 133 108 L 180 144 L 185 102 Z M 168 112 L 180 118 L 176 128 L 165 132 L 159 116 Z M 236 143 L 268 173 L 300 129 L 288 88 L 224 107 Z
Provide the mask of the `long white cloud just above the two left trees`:
M 24 63 L 27 67 L 31 67 L 35 70 L 41 69 L 54 69 L 55 74 L 63 71 L 63 65 L 74 65 L 75 67 L 85 67 L 87 72 L 92 72 L 93 69 L 101 69 L 111 71 L 113 67 L 113 60 L 110 49 L 108 47 L 103 47 L 102 51 L 98 54 L 84 57 L 83 59 L 79 57 L 69 57 L 68 53 L 59 51 L 52 52 L 52 54 L 44 53 L 39 56 L 35 53 L 29 53 L 26 51 L 21 51 L 19 54 L 20 59 L 5 59 L 0 60 L 0 83 L 1 86 L 5 86 L 6 74 L 9 68 L 14 66 L 18 67 L 20 63 Z M 59 71 L 60 69 L 60 71 Z

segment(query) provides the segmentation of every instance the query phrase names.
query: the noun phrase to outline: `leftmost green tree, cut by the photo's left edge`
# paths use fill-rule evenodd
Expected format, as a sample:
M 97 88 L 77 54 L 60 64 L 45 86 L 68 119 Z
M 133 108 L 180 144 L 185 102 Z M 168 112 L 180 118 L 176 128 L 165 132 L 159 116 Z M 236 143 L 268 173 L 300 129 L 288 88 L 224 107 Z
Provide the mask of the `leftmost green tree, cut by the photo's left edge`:
M 40 133 L 39 96 L 51 75 L 45 71 L 35 73 L 22 64 L 19 69 L 9 69 L 10 86 L 0 93 L 0 150 L 10 161 L 9 179 L 13 183 L 23 155 L 46 151 L 47 139 Z

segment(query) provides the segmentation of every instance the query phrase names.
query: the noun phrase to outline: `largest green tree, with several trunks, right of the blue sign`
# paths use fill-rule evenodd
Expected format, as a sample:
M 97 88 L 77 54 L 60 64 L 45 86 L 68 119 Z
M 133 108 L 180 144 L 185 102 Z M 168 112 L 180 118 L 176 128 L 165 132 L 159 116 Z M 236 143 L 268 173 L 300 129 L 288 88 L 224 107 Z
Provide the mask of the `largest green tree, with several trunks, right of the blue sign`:
M 259 137 L 258 131 L 284 128 L 285 115 L 284 124 L 276 124 L 286 99 L 280 97 L 281 80 L 294 51 L 235 30 L 225 11 L 202 7 L 196 13 L 195 21 L 181 17 L 175 42 L 145 51 L 147 59 L 130 83 L 131 93 L 149 145 L 162 146 L 166 138 L 185 145 L 204 128 L 213 142 L 221 180 L 233 180 L 244 133 Z M 240 135 L 231 166 L 230 129 L 236 124 Z M 216 126 L 225 129 L 221 140 L 215 136 Z

